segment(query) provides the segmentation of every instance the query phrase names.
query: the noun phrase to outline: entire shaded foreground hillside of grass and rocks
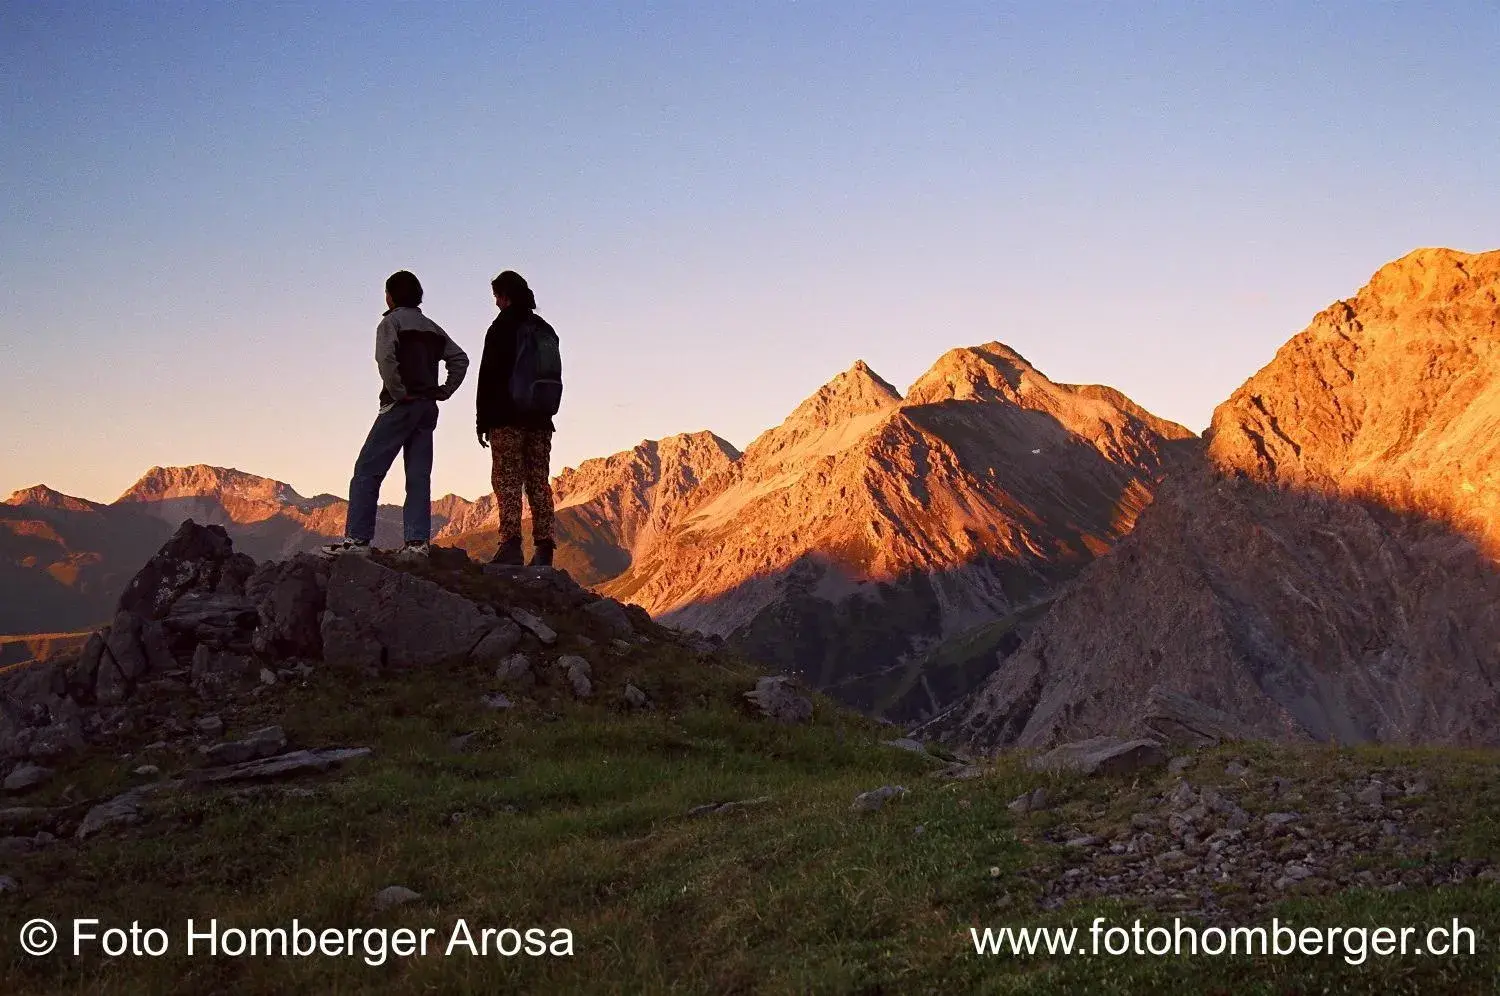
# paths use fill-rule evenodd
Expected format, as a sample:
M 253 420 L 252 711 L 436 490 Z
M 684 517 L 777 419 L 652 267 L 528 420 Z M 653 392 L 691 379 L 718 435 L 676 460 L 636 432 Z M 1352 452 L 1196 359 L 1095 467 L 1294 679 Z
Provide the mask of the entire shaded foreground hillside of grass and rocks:
M 968 936 L 1095 915 L 1488 930 L 1485 752 L 1236 741 L 1161 694 L 1149 740 L 969 756 L 562 573 L 452 550 L 254 564 L 184 526 L 82 656 L 0 684 L 0 938 L 69 914 L 579 939 L 572 962 L 362 975 L 8 946 L 3 992 L 1416 993 L 1497 972 L 1488 934 L 1395 974 L 986 960 Z

